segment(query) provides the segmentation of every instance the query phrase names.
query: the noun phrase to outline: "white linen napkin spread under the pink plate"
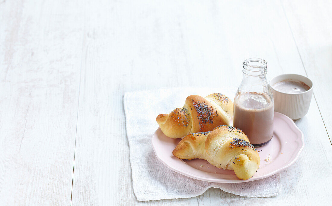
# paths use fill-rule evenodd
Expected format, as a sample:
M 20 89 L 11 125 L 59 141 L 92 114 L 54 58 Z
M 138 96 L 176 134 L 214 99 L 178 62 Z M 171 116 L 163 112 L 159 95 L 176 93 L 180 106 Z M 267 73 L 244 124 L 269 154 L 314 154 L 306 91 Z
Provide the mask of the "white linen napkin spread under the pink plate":
M 201 195 L 210 187 L 246 197 L 272 197 L 281 192 L 280 174 L 243 183 L 214 183 L 178 174 L 155 156 L 151 136 L 158 129 L 156 117 L 182 107 L 187 96 L 223 93 L 234 98 L 235 90 L 211 88 L 168 88 L 126 92 L 124 112 L 130 148 L 132 184 L 137 200 L 189 198 Z

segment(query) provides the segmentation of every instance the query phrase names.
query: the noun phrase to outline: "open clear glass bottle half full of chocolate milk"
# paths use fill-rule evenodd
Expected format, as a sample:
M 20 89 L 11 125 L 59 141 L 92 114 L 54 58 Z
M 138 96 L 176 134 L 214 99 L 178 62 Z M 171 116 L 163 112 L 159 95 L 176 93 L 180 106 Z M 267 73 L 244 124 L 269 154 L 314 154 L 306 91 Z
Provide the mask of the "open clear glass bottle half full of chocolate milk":
M 254 146 L 273 136 L 274 100 L 266 80 L 267 63 L 260 58 L 243 62 L 243 78 L 234 98 L 233 126 L 241 129 Z

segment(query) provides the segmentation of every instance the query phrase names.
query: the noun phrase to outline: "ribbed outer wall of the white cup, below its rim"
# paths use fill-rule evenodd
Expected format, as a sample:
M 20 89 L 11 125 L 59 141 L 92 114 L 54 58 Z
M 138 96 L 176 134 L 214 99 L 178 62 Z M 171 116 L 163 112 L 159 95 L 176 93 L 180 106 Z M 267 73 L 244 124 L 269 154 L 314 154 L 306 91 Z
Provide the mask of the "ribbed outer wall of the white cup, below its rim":
M 285 94 L 272 88 L 274 108 L 276 112 L 297 120 L 307 114 L 311 102 L 313 89 L 297 94 Z

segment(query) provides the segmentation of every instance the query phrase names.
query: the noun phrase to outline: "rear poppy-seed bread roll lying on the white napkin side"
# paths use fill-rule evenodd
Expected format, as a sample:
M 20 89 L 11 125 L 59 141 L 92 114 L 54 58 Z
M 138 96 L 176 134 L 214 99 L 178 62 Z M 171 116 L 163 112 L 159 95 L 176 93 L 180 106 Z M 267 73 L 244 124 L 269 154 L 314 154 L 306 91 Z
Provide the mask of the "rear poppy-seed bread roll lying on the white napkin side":
M 164 134 L 183 138 L 187 134 L 211 131 L 219 125 L 229 125 L 233 116 L 233 102 L 220 93 L 207 97 L 191 95 L 185 105 L 169 114 L 160 114 L 157 123 Z

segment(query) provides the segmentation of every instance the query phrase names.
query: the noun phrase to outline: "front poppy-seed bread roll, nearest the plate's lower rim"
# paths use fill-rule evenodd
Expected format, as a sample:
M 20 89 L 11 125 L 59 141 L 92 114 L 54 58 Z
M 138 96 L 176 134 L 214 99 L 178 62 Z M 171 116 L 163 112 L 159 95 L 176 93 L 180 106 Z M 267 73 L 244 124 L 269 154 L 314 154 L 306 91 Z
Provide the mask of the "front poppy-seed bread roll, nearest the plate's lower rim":
M 211 165 L 233 170 L 241 180 L 251 178 L 259 167 L 259 154 L 248 137 L 235 127 L 221 125 L 211 132 L 188 134 L 173 150 L 180 159 L 207 160 Z

